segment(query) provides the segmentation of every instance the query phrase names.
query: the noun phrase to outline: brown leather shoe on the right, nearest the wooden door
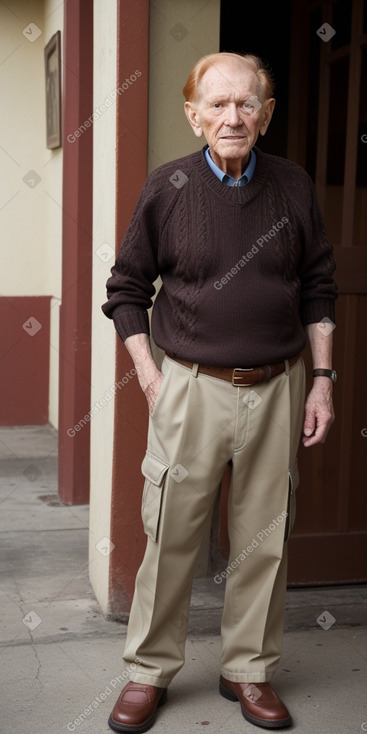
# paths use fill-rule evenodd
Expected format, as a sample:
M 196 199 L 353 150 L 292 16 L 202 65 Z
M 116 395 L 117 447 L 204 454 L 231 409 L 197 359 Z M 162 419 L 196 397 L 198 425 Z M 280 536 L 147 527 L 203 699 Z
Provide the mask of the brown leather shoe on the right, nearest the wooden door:
M 219 692 L 229 701 L 238 700 L 242 715 L 255 726 L 281 729 L 292 723 L 288 709 L 269 683 L 233 683 L 221 676 Z

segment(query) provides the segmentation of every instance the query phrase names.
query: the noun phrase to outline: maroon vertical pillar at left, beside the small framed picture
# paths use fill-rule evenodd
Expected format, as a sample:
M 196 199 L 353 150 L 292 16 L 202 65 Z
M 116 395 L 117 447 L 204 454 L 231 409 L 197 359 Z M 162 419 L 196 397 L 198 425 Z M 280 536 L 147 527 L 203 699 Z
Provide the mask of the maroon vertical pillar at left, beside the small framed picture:
M 89 499 L 89 423 L 70 434 L 90 410 L 93 125 L 80 126 L 93 112 L 92 0 L 65 0 L 62 63 L 59 495 L 83 504 Z

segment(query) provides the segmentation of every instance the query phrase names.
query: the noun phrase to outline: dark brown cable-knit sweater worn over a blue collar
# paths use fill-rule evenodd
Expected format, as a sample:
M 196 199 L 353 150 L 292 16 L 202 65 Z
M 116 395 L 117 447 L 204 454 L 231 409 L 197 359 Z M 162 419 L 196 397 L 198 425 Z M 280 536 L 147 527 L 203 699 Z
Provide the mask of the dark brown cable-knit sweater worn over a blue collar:
M 334 321 L 334 260 L 313 183 L 295 163 L 255 148 L 247 186 L 229 187 L 204 150 L 148 177 L 102 306 L 125 340 L 149 333 L 202 364 L 278 362 L 306 344 L 304 326 Z

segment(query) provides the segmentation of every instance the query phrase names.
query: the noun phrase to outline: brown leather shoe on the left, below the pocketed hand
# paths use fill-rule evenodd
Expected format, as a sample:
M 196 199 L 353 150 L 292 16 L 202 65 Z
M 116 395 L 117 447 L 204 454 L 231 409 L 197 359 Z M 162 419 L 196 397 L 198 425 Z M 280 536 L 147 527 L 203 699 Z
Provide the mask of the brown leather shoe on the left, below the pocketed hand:
M 115 731 L 141 734 L 153 726 L 158 706 L 166 701 L 167 688 L 130 681 L 122 689 L 108 719 L 108 725 Z

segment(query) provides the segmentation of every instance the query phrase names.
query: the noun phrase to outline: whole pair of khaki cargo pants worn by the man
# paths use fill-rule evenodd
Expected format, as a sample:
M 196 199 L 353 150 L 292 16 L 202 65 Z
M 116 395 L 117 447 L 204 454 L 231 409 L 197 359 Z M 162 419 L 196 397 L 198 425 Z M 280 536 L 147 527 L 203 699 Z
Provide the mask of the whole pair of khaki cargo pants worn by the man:
M 221 673 L 260 683 L 276 668 L 305 395 L 303 360 L 286 365 L 268 383 L 234 387 L 163 360 L 142 464 L 148 538 L 124 652 L 128 665 L 140 660 L 131 680 L 164 688 L 184 663 L 195 563 L 230 459 Z

